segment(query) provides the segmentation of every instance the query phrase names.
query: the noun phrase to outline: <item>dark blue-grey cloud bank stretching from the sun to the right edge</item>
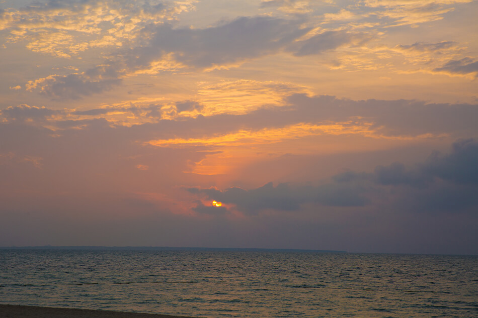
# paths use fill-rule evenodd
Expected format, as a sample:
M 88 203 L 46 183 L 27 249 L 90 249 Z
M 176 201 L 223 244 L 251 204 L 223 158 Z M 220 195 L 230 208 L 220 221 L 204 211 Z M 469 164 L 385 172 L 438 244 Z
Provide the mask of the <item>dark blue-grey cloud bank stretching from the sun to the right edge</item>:
M 373 209 L 376 204 L 383 204 L 380 202 L 390 206 L 397 204 L 399 209 L 407 207 L 408 213 L 422 210 L 458 213 L 478 205 L 476 162 L 478 141 L 461 140 L 453 144 L 450 154 L 433 154 L 412 168 L 393 163 L 377 166 L 373 172 L 347 171 L 332 177 L 331 183 L 318 186 L 279 183 L 274 187 L 269 182 L 250 190 L 238 187 L 185 189 L 210 200 L 234 204 L 247 215 L 257 215 L 267 209 L 298 211 L 309 203 Z

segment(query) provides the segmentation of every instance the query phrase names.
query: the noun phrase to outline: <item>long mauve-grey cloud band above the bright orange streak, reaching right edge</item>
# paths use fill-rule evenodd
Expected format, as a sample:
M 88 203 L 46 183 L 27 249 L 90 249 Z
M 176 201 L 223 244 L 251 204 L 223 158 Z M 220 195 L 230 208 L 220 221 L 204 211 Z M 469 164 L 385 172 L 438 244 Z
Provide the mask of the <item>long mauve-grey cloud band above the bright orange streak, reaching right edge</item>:
M 478 133 L 475 123 L 478 108 L 473 104 L 428 104 L 405 99 L 355 101 L 304 94 L 291 95 L 286 102 L 288 105 L 285 107 L 263 108 L 244 115 L 198 116 L 181 121 L 161 121 L 148 127 L 154 127 L 156 138 L 170 135 L 197 138 L 194 133 L 197 131 L 203 132 L 201 137 L 207 137 L 240 129 L 256 131 L 299 123 L 315 125 L 347 121 L 351 121 L 350 125 L 372 123 L 370 129 L 384 136 L 447 134 L 465 138 Z

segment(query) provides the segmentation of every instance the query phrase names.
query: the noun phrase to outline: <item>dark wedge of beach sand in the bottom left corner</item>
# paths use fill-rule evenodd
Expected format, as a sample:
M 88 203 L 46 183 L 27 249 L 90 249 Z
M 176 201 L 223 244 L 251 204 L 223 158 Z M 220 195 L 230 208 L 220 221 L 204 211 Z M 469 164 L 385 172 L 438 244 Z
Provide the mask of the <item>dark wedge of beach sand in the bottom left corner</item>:
M 166 314 L 89 310 L 74 308 L 52 308 L 37 306 L 2 305 L 0 318 L 193 318 Z

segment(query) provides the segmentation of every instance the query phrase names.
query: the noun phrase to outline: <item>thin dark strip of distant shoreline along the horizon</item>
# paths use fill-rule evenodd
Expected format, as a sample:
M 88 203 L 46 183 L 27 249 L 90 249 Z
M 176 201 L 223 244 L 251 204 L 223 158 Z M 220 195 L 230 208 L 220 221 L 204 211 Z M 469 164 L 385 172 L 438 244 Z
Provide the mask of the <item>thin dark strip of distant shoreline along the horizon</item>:
M 167 246 L 0 246 L 0 250 L 106 250 L 106 251 L 230 251 L 230 252 L 301 252 L 347 253 L 334 250 L 222 248 L 222 247 L 167 247 Z

